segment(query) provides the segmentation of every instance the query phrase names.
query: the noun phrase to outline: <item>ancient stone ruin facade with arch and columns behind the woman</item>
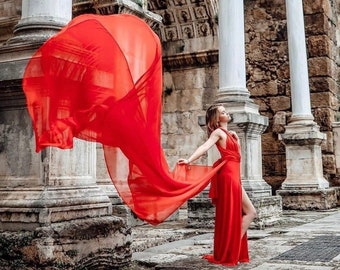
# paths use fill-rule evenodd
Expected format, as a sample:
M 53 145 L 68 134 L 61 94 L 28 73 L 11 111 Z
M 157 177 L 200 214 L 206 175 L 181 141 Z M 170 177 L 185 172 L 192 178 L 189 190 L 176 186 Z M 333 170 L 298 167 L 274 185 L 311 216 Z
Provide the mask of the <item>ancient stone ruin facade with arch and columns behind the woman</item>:
M 275 224 L 282 203 L 302 210 L 339 204 L 339 0 L 297 1 L 303 2 L 299 26 L 305 30 L 301 39 L 308 65 L 303 96 L 292 86 L 290 74 L 289 1 L 38 2 L 0 0 L 0 229 L 8 241 L 3 243 L 15 243 L 7 245 L 8 261 L 24 263 L 21 254 L 29 260 L 25 263 L 39 267 L 119 266 L 131 256 L 129 226 L 137 221 L 110 183 L 100 146 L 76 141 L 70 151 L 51 148 L 36 154 L 21 88 L 30 55 L 71 17 L 83 13 L 132 13 L 159 35 L 162 146 L 170 167 L 206 139 L 205 109 L 221 102 L 233 114 L 231 128 L 241 137 L 242 180 L 258 208 L 256 225 Z M 41 13 L 45 16 L 39 17 Z M 235 55 L 238 61 L 230 64 Z M 299 104 L 307 121 L 301 120 Z M 297 125 L 290 125 L 294 121 Z M 199 162 L 212 164 L 215 158 L 212 150 Z M 296 164 L 307 164 L 312 172 L 299 172 Z M 311 183 L 310 175 L 318 180 Z M 204 192 L 188 209 L 190 225 L 213 222 Z M 21 230 L 25 233 L 18 234 Z M 91 248 L 83 250 L 84 244 Z

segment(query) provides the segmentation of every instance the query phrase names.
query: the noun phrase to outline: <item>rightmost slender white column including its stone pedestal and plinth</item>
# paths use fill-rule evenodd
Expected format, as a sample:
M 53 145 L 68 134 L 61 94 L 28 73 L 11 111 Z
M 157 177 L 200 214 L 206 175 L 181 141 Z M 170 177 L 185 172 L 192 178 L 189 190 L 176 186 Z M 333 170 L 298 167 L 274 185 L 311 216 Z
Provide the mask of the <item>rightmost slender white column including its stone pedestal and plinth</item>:
M 321 143 L 326 139 L 311 113 L 302 0 L 286 0 L 292 117 L 281 140 L 287 177 L 277 192 L 293 209 L 331 207 L 333 190 L 323 177 Z

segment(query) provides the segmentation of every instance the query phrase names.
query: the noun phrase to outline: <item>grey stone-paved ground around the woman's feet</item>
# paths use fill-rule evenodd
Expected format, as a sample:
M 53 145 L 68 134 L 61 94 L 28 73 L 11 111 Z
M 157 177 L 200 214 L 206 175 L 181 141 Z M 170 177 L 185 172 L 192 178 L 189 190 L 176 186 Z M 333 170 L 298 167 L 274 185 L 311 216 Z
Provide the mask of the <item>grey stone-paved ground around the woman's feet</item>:
M 178 221 L 133 228 L 133 262 L 126 269 L 228 269 L 201 259 L 212 252 L 213 230 L 187 228 L 182 211 Z M 251 262 L 232 269 L 340 269 L 340 208 L 284 211 L 280 224 L 248 236 Z

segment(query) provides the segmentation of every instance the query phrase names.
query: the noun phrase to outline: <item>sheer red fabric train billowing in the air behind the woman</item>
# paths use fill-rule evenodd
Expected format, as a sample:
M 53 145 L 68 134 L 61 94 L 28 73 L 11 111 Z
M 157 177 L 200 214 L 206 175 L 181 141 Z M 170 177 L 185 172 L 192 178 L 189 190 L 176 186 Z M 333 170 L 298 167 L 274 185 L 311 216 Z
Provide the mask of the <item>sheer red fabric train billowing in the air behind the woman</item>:
M 74 137 L 102 143 L 123 201 L 154 225 L 219 169 L 169 170 L 160 140 L 161 61 L 160 41 L 143 20 L 81 15 L 37 50 L 23 78 L 36 151 L 72 148 Z

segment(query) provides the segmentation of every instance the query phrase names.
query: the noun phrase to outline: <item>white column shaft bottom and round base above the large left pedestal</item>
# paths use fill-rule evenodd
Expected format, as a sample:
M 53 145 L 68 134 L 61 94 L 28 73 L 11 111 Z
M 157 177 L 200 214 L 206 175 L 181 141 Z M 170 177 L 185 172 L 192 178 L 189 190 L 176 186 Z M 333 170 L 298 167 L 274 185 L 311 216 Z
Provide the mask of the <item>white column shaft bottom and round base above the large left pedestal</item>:
M 21 19 L 8 43 L 43 42 L 72 19 L 72 0 L 22 0 Z

